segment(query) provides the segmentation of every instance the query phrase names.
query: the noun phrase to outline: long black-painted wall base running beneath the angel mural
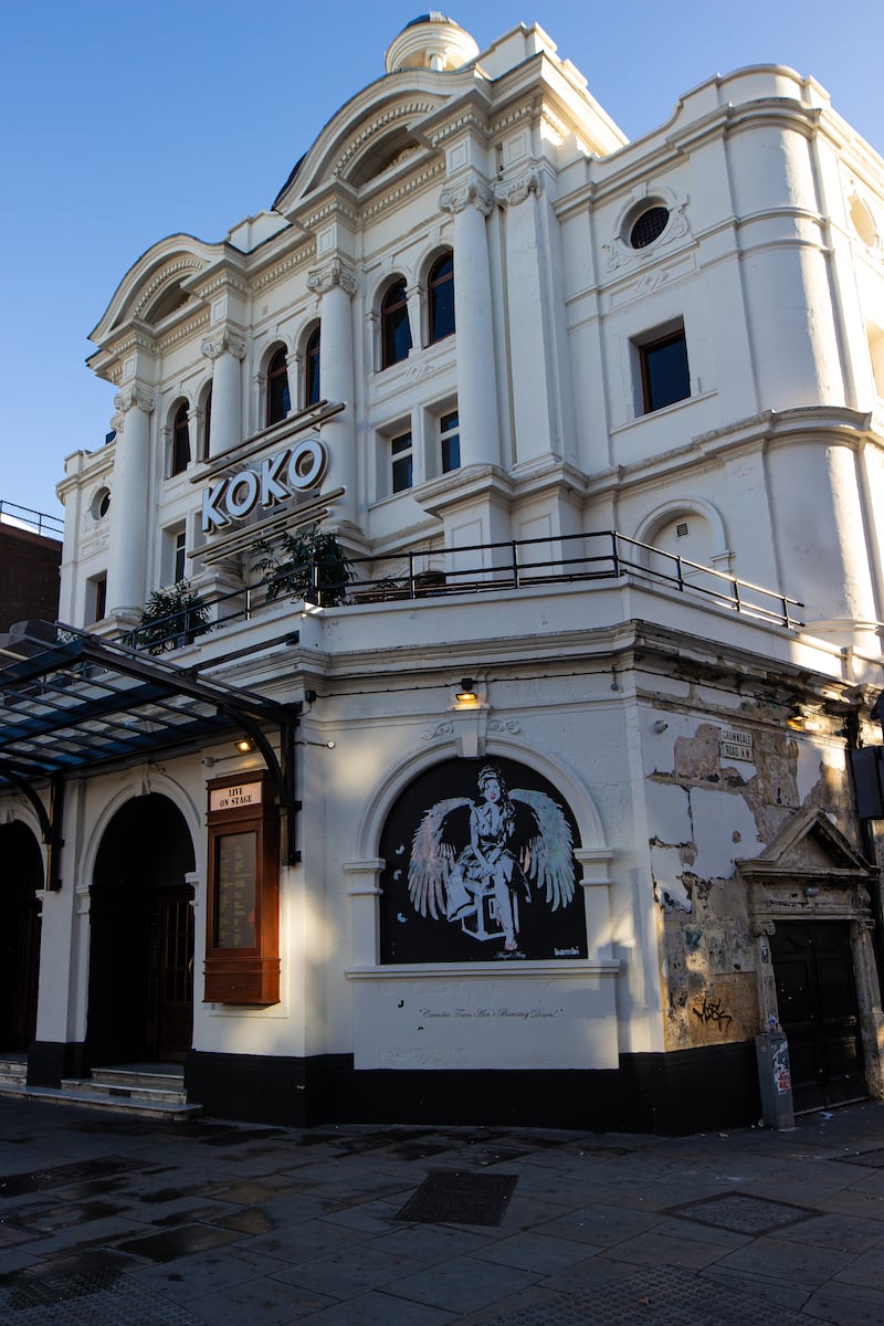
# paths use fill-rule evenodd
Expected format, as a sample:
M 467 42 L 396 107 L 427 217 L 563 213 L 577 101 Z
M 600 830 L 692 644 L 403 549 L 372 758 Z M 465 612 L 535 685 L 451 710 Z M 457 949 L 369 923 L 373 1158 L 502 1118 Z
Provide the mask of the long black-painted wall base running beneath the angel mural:
M 191 1050 L 188 1099 L 253 1123 L 497 1124 L 679 1135 L 761 1115 L 755 1049 L 624 1054 L 619 1069 L 357 1071 L 349 1054 L 309 1059 Z

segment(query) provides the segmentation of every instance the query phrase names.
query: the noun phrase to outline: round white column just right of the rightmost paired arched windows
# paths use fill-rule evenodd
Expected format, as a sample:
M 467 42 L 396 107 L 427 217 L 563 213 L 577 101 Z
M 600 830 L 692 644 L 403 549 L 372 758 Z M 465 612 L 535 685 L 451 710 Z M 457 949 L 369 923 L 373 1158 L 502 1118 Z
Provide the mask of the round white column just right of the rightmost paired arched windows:
M 455 217 L 457 408 L 464 465 L 500 464 L 492 278 L 485 217 L 494 198 L 478 175 L 443 191 L 439 206 Z

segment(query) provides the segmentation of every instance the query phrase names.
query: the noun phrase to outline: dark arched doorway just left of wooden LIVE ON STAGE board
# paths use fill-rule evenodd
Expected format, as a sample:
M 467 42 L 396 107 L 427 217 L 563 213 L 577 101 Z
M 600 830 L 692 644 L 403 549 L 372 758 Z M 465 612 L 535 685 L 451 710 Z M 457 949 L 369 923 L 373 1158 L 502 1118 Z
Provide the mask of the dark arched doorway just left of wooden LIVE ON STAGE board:
M 111 819 L 90 907 L 89 1062 L 180 1062 L 193 1030 L 193 845 L 156 794 Z

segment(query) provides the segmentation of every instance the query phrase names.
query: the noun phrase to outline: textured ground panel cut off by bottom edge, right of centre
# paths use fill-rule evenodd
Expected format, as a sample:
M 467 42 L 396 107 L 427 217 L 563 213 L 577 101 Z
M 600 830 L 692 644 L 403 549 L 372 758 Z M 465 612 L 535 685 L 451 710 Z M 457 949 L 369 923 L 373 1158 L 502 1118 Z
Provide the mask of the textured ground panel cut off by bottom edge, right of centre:
M 807 1326 L 807 1317 L 782 1303 L 767 1302 L 669 1268 L 648 1268 L 622 1280 L 571 1294 L 561 1303 L 527 1307 L 500 1317 L 494 1326 Z

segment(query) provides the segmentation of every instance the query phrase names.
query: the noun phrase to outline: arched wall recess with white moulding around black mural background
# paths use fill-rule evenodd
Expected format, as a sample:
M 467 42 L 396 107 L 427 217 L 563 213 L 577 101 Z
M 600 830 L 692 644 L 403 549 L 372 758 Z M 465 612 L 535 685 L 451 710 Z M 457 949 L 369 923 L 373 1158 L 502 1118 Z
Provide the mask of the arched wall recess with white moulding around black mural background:
M 501 735 L 494 743 L 488 743 L 488 749 L 481 756 L 469 758 L 461 756 L 461 743 L 457 740 L 439 743 L 432 751 L 421 752 L 419 756 L 411 754 L 402 760 L 376 789 L 358 827 L 359 859 L 345 867 L 354 882 L 351 895 L 357 965 L 414 960 L 412 956 L 402 953 L 398 957 L 391 956 L 390 940 L 391 926 L 404 926 L 412 919 L 416 922 L 415 928 L 424 931 L 423 956 L 417 956 L 417 961 L 488 960 L 498 956 L 498 951 L 500 956 L 505 956 L 506 941 L 510 937 L 506 934 L 509 918 L 505 915 L 505 907 L 500 907 L 504 915 L 496 918 L 497 907 L 492 898 L 494 890 L 478 890 L 484 895 L 485 906 L 485 915 L 480 916 L 473 907 L 476 891 L 468 887 L 468 895 L 473 896 L 463 898 L 460 907 L 473 915 L 468 920 L 468 928 L 460 930 L 460 935 L 465 936 L 461 939 L 451 930 L 447 915 L 448 911 L 452 914 L 460 911 L 460 907 L 449 904 L 449 891 L 441 878 L 464 850 L 465 842 L 461 841 L 464 831 L 469 838 L 469 825 L 465 829 L 464 819 L 469 819 L 470 802 L 481 805 L 484 801 L 478 774 L 488 765 L 500 769 L 509 790 L 529 793 L 527 797 L 513 798 L 520 802 L 514 808 L 518 833 L 524 833 L 526 819 L 539 815 L 542 822 L 535 822 L 529 838 L 537 838 L 539 829 L 539 835 L 546 839 L 543 845 L 537 842 L 530 845 L 527 855 L 522 841 L 518 843 L 518 850 L 512 851 L 518 865 L 518 871 L 514 873 L 516 883 L 522 892 L 518 900 L 518 916 L 514 918 L 517 943 L 510 952 L 537 960 L 611 957 L 608 863 L 612 853 L 604 843 L 602 821 L 592 798 L 565 765 L 534 749 L 526 749 L 524 743 L 516 739 Z M 534 794 L 539 794 L 539 800 Z M 554 802 L 554 806 L 545 806 L 543 798 Z M 447 808 L 445 802 L 451 805 Z M 460 825 L 455 826 L 452 822 L 448 834 L 441 823 L 447 810 L 463 812 L 464 808 L 467 814 L 455 814 L 453 818 L 460 819 Z M 399 809 L 402 809 L 400 815 L 398 815 Z M 436 886 L 431 884 L 429 892 L 425 894 L 423 915 L 417 919 L 412 914 L 420 914 L 421 906 L 419 903 L 415 908 L 408 892 L 408 865 L 415 834 L 421 826 L 427 833 L 437 833 L 440 842 L 447 841 L 447 846 L 440 849 L 443 855 L 447 853 L 447 862 L 437 859 L 429 865 L 429 873 L 435 870 L 439 882 Z M 545 875 L 538 873 L 537 858 L 543 851 L 553 857 L 558 853 L 559 858 L 563 853 L 567 855 L 562 835 L 570 838 L 573 862 L 565 873 L 569 878 L 559 876 L 557 882 L 549 871 Z M 425 850 L 425 842 L 424 838 L 421 850 Z M 399 859 L 394 861 L 396 857 Z M 399 878 L 395 879 L 398 871 Z M 408 907 L 391 904 L 388 892 L 391 886 L 408 900 Z M 498 890 L 498 906 L 501 892 Z M 453 890 L 451 895 L 453 896 Z M 573 902 L 569 902 L 569 895 Z M 431 896 L 435 896 L 435 918 Z M 406 918 L 404 922 L 398 919 L 400 915 Z M 542 918 L 542 924 L 530 923 L 531 916 L 537 916 L 538 922 Z M 460 927 L 465 918 L 467 911 L 461 916 L 452 915 L 451 920 Z M 497 926 L 493 924 L 496 919 Z M 470 927 L 477 932 L 481 931 L 484 937 L 469 937 Z M 530 928 L 534 928 L 534 935 L 529 943 Z M 432 936 L 433 930 L 437 932 L 435 936 Z M 435 952 L 433 944 L 436 944 Z M 477 945 L 481 945 L 481 951 Z M 415 952 L 420 947 L 419 940 Z

